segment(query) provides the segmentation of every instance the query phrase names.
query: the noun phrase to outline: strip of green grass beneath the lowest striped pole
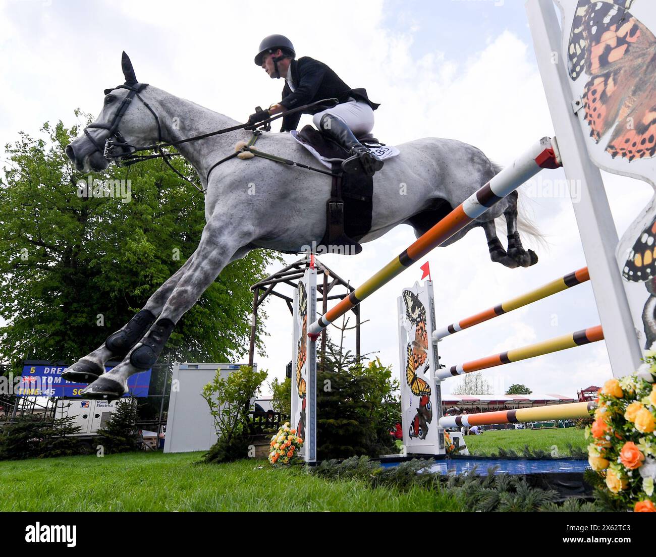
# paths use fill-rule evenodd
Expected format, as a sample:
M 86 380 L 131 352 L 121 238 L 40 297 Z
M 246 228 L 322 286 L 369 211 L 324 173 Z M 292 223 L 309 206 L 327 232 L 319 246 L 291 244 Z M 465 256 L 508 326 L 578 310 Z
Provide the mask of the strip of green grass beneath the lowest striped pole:
M 468 435 L 464 438 L 471 454 L 497 453 L 499 449 L 512 449 L 522 453 L 524 445 L 531 451 L 542 450 L 551 453 L 552 447 L 557 447 L 558 455 L 568 456 L 567 444 L 579 447 L 587 452 L 584 431 L 577 428 L 560 429 L 504 429 L 486 431 L 481 435 Z

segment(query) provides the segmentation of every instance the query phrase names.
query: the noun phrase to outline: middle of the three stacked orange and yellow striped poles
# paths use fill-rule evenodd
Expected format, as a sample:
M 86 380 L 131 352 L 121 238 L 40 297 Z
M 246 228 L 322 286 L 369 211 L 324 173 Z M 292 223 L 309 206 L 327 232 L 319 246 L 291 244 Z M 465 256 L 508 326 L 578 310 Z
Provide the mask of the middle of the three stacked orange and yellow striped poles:
M 444 367 L 438 369 L 435 374 L 436 379 L 447 379 L 454 375 L 462 375 L 462 373 L 472 373 L 472 371 L 479 371 L 480 369 L 487 369 L 497 365 L 505 365 L 513 361 L 527 360 L 528 358 L 535 358 L 536 356 L 544 356 L 544 354 L 551 354 L 552 352 L 559 352 L 560 350 L 567 350 L 567 348 L 574 348 L 575 346 L 583 346 L 583 344 L 590 344 L 590 342 L 598 342 L 604 340 L 604 331 L 602 326 L 590 327 L 583 329 L 583 331 L 576 331 L 556 337 L 555 339 L 543 340 L 536 344 L 529 344 L 522 348 L 514 348 L 501 354 L 494 354 L 493 356 L 486 356 L 480 360 L 467 361 L 452 365 L 451 367 Z

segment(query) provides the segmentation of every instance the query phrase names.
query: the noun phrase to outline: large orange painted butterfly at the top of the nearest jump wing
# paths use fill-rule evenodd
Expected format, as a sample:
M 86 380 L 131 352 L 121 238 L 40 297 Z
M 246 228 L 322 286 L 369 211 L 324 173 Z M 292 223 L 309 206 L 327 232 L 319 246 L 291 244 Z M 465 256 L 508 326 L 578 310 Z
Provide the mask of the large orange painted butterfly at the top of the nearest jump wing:
M 590 136 L 610 133 L 605 151 L 629 162 L 656 154 L 656 37 L 628 11 L 637 1 L 579 0 L 567 52 L 571 79 L 589 79 Z

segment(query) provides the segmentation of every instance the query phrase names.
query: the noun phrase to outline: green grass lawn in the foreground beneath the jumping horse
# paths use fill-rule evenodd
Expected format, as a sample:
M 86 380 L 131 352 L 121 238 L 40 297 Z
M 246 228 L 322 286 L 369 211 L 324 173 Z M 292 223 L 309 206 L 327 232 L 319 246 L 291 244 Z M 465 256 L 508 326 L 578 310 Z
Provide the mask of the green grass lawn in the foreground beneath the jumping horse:
M 417 487 L 372 489 L 267 461 L 197 464 L 202 453 L 129 453 L 0 462 L 7 511 L 460 511 L 456 497 Z

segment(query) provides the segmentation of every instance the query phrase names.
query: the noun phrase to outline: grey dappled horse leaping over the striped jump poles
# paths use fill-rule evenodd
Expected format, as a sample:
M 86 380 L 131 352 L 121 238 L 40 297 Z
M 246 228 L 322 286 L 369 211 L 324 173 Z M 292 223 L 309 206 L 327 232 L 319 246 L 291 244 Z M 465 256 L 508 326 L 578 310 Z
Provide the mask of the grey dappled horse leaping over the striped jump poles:
M 97 172 L 108 167 L 110 159 L 106 155 L 112 157 L 104 150 L 108 138 L 123 156 L 133 153 L 135 146 L 152 145 L 158 140 L 176 142 L 238 124 L 220 113 L 138 83 L 125 53 L 123 73 L 125 85 L 106 91 L 96 121 L 66 147 L 66 155 L 78 171 Z M 102 346 L 68 368 L 66 379 L 90 382 L 84 396 L 112 399 L 127 392 L 128 377 L 157 361 L 175 323 L 231 261 L 256 247 L 297 252 L 321 241 L 326 201 L 331 193 L 329 177 L 254 157 L 232 158 L 215 167 L 208 180 L 209 169 L 234 152 L 237 142 L 249 140 L 250 136 L 250 131 L 239 129 L 177 146 L 206 191 L 207 224 L 192 256 L 155 291 L 144 308 Z M 257 147 L 316 165 L 312 155 L 288 133 L 265 132 Z M 372 227 L 360 240 L 362 243 L 400 224 L 413 226 L 419 237 L 501 170 L 480 150 L 457 140 L 422 138 L 398 148 L 400 155 L 388 159 L 375 175 Z M 502 199 L 444 245 L 482 226 L 493 261 L 511 268 L 535 264 L 535 253 L 525 251 L 520 242 L 517 200 L 517 193 Z M 508 227 L 507 250 L 496 234 L 494 219 L 501 215 Z M 539 236 L 530 224 L 525 230 Z M 121 363 L 101 375 L 108 360 Z

